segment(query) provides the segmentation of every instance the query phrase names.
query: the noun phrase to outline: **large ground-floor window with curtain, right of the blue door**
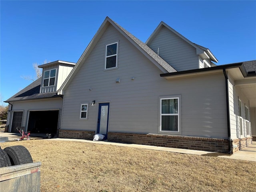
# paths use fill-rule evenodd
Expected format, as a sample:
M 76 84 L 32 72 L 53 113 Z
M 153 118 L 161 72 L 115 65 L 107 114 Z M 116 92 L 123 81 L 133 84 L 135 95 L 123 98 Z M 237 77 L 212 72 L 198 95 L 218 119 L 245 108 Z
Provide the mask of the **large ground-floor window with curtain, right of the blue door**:
M 162 98 L 160 131 L 179 131 L 179 98 Z

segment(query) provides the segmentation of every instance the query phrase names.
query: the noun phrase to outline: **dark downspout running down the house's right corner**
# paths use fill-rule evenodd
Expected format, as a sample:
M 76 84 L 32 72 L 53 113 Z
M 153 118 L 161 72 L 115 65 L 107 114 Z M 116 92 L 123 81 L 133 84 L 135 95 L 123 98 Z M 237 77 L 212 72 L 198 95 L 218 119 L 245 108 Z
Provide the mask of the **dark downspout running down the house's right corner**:
M 230 133 L 230 108 L 229 108 L 229 91 L 228 91 L 228 75 L 226 68 L 223 68 L 226 83 L 226 109 L 227 109 L 227 125 L 228 125 L 228 154 L 231 154 L 231 133 Z

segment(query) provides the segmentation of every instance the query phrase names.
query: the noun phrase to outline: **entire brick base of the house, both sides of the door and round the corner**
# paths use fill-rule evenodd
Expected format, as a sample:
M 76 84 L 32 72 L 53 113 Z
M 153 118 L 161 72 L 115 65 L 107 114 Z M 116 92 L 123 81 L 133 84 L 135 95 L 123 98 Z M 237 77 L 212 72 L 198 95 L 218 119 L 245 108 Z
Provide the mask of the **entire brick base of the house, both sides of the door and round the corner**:
M 60 138 L 92 140 L 94 134 L 94 131 L 59 130 Z M 228 153 L 227 139 L 108 132 L 108 141 Z M 238 152 L 250 144 L 252 144 L 252 137 L 231 140 L 231 153 Z

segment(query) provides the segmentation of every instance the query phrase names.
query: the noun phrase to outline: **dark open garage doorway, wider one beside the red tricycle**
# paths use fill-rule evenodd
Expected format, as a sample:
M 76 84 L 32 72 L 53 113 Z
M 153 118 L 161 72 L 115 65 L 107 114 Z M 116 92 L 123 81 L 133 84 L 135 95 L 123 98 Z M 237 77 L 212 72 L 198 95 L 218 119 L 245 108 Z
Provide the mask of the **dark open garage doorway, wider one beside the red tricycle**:
M 31 133 L 57 133 L 59 110 L 30 111 L 28 131 Z

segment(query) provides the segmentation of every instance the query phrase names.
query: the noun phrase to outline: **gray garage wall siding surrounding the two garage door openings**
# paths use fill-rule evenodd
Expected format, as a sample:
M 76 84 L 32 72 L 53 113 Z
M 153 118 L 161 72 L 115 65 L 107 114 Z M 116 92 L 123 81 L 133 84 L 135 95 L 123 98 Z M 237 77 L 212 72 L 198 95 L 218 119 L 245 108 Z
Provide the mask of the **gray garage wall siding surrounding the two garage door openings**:
M 13 111 L 23 111 L 22 116 L 22 127 L 25 127 L 27 130 L 29 111 L 43 111 L 43 110 L 60 110 L 59 112 L 59 124 L 60 124 L 60 114 L 62 109 L 62 98 L 53 98 L 53 99 L 40 99 L 40 100 L 29 100 L 29 101 L 20 101 L 12 103 L 12 113 Z M 10 121 L 11 127 L 12 119 Z

